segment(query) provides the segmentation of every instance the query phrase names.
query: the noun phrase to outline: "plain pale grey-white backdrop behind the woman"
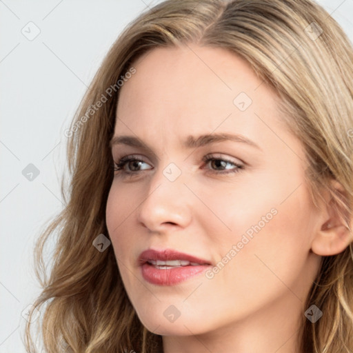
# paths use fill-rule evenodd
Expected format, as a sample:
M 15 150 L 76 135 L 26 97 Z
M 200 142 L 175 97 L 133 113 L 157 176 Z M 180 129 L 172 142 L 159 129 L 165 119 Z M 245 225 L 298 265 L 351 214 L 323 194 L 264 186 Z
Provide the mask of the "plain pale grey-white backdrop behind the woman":
M 63 132 L 119 33 L 159 2 L 0 0 L 0 353 L 26 352 L 34 239 L 63 208 Z M 353 0 L 319 3 L 353 41 Z

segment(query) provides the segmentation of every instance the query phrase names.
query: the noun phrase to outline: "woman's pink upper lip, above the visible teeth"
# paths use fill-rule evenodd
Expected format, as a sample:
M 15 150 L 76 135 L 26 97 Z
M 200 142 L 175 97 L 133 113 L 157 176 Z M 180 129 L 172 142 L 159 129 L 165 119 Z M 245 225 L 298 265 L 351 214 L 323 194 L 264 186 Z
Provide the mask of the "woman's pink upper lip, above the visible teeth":
M 194 263 L 199 263 L 200 265 L 210 265 L 210 261 L 200 259 L 199 257 L 192 256 L 190 254 L 185 254 L 183 252 L 179 252 L 173 249 L 163 249 L 163 250 L 154 250 L 148 249 L 141 252 L 138 263 L 139 265 L 143 265 L 150 260 L 161 260 L 161 261 L 168 261 L 168 260 L 185 260 Z

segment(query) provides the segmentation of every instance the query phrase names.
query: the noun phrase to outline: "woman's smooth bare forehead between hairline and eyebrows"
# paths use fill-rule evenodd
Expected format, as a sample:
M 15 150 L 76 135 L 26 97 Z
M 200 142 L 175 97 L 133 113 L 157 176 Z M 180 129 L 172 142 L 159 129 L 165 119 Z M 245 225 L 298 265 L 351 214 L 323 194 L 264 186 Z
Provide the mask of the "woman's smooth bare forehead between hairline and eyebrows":
M 261 128 L 256 112 L 276 117 L 276 94 L 250 65 L 223 48 L 156 48 L 133 63 L 121 87 L 116 132 L 239 132 Z M 152 137 L 152 135 L 151 135 Z

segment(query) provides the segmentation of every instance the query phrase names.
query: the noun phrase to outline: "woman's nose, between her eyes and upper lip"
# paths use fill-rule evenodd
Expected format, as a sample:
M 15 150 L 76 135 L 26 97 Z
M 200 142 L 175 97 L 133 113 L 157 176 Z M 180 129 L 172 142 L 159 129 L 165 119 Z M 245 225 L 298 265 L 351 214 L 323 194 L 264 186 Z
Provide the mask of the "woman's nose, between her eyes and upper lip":
M 191 221 L 192 192 L 184 185 L 183 173 L 174 181 L 157 170 L 138 210 L 138 221 L 151 232 L 185 228 Z

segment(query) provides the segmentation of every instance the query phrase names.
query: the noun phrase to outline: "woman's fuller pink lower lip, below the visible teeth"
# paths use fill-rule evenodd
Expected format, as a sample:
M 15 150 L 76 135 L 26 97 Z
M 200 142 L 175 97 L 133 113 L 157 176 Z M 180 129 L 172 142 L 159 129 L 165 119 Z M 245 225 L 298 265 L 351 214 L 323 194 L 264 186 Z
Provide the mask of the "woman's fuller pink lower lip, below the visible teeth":
M 210 265 L 180 266 L 177 268 L 159 269 L 150 263 L 141 266 L 145 281 L 156 285 L 174 285 L 190 279 L 205 271 Z

